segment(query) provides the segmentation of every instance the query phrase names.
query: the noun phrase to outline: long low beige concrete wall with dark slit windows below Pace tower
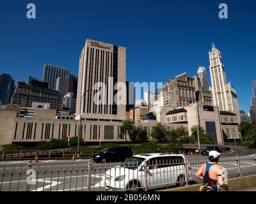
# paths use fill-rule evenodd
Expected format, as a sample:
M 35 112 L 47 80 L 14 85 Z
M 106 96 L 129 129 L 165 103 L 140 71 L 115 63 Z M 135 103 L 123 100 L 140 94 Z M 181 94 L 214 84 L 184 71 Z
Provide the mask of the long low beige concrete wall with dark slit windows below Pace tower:
M 79 135 L 79 120 L 61 120 L 47 118 L 21 118 L 16 117 L 16 112 L 0 113 L 0 144 L 12 142 L 40 142 L 53 138 L 63 139 L 68 135 Z M 156 126 L 156 120 L 136 123 L 147 131 L 148 139 L 152 128 Z M 98 142 L 102 136 L 102 142 L 125 142 L 129 136 L 120 137 L 122 122 L 82 120 L 82 136 L 86 142 Z M 178 128 L 180 124 L 167 124 L 170 128 Z M 3 130 L 3 131 L 2 131 Z

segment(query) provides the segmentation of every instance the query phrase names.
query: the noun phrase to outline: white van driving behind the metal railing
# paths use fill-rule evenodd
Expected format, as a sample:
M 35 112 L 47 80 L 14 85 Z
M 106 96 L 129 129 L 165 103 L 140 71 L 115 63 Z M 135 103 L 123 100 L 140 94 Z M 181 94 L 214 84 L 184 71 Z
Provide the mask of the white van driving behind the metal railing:
M 147 161 L 148 189 L 185 184 L 185 157 L 182 154 L 139 154 L 127 159 L 121 166 L 106 171 L 106 191 L 138 191 L 144 187 L 144 166 Z M 188 167 L 188 175 L 191 175 Z

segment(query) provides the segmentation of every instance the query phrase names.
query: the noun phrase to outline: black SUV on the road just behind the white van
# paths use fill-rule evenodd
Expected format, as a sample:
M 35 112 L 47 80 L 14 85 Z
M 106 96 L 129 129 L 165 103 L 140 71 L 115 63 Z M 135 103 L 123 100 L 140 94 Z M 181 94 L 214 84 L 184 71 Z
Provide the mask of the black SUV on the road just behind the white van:
M 96 163 L 121 162 L 132 156 L 128 147 L 110 147 L 93 154 L 92 160 Z

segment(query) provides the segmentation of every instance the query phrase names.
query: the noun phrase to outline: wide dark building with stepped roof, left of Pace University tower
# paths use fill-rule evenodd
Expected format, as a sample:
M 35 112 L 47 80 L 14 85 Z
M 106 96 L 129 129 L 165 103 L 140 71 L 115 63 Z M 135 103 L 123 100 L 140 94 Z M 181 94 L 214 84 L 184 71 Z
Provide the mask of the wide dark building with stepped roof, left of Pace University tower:
M 28 82 L 18 82 L 13 93 L 12 104 L 32 107 L 33 102 L 50 103 L 50 108 L 61 110 L 61 94 L 48 89 L 47 82 L 29 77 Z

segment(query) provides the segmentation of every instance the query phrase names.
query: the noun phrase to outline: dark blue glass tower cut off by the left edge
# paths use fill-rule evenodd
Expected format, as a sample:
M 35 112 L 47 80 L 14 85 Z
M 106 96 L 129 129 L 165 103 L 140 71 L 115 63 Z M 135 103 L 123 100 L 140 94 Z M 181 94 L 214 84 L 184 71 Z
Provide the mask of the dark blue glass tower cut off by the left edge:
M 14 91 L 14 80 L 8 74 L 0 75 L 0 102 L 7 105 L 11 102 Z

